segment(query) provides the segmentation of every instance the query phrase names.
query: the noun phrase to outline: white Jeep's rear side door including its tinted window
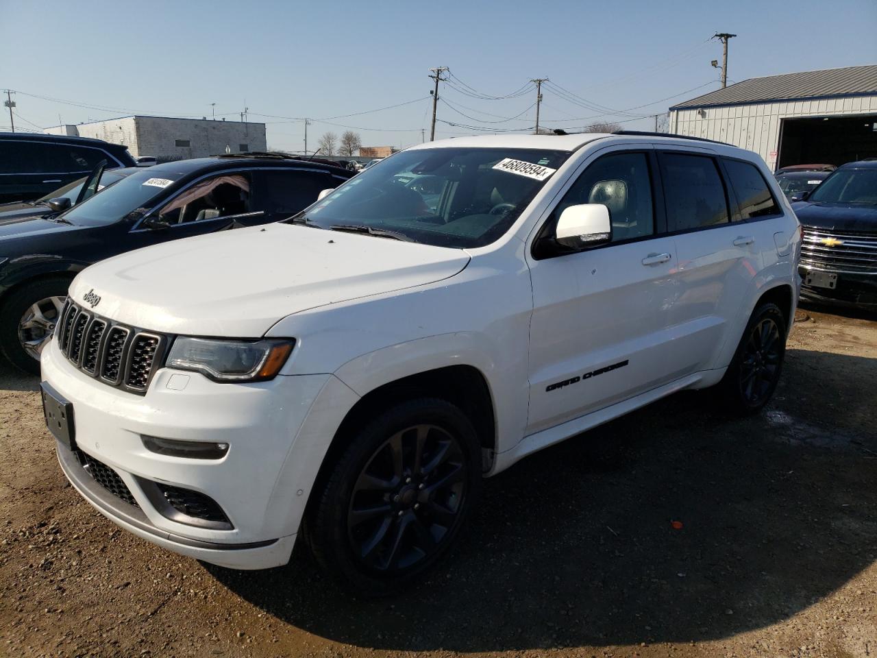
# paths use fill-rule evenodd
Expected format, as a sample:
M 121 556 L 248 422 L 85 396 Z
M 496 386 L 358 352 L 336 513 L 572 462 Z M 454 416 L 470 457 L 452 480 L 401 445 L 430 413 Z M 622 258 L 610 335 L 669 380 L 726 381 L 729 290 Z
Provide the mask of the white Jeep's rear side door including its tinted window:
M 738 315 L 763 268 L 768 237 L 742 221 L 722 161 L 712 153 L 667 147 L 658 154 L 679 264 L 673 324 L 688 350 L 686 368 L 723 367 L 715 359 L 737 340 Z M 773 236 L 769 238 L 773 244 Z

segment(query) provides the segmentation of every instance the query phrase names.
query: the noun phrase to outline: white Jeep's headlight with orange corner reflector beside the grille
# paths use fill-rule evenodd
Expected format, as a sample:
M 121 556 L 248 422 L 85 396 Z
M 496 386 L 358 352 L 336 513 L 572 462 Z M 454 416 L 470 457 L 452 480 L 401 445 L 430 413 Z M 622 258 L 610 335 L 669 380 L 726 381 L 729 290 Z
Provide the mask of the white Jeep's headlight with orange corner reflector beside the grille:
M 273 379 L 295 340 L 219 340 L 180 336 L 168 354 L 168 368 L 195 370 L 215 382 Z

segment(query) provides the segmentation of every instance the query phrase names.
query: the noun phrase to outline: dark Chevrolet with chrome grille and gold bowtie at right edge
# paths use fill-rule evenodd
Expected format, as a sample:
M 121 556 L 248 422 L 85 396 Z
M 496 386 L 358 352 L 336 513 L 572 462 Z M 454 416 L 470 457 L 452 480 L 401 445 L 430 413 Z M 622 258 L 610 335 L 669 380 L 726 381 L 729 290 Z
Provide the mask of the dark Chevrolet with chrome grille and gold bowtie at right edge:
M 877 161 L 845 164 L 792 208 L 802 299 L 877 310 Z

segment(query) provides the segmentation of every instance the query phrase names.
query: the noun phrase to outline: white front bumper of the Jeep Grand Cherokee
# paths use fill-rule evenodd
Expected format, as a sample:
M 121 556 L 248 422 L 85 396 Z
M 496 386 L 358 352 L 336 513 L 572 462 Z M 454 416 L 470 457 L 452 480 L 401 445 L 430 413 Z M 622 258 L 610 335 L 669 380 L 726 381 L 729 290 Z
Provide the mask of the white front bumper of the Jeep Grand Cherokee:
M 325 426 L 306 421 L 327 383 L 346 390 L 332 375 L 226 384 L 163 368 L 146 396 L 139 396 L 74 368 L 55 340 L 43 350 L 42 375 L 73 404 L 76 447 L 111 468 L 130 491 L 134 504 L 103 488 L 59 445 L 61 468 L 104 516 L 162 547 L 226 567 L 264 569 L 289 561 L 324 454 L 313 446 L 332 439 Z M 229 448 L 220 459 L 178 457 L 148 450 L 143 436 L 224 442 Z M 153 504 L 145 482 L 212 498 L 232 527 L 181 522 Z

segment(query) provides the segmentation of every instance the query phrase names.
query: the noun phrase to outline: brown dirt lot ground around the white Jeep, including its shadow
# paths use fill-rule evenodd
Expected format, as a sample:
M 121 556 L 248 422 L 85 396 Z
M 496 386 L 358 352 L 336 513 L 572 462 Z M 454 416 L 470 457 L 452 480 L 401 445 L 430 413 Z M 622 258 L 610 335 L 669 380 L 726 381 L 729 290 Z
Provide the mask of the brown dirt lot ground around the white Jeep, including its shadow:
M 766 413 L 682 393 L 536 454 L 380 601 L 118 530 L 0 369 L 0 654 L 877 656 L 877 322 L 807 312 Z

